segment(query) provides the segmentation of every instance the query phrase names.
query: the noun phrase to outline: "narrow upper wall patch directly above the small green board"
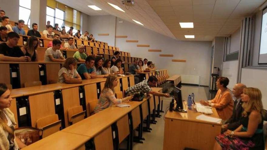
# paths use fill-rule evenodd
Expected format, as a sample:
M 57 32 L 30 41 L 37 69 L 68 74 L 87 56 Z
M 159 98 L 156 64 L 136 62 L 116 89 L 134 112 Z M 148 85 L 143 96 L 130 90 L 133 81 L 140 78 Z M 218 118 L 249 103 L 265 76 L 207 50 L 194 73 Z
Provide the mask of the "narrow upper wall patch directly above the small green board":
M 240 28 L 231 35 L 230 53 L 240 50 Z

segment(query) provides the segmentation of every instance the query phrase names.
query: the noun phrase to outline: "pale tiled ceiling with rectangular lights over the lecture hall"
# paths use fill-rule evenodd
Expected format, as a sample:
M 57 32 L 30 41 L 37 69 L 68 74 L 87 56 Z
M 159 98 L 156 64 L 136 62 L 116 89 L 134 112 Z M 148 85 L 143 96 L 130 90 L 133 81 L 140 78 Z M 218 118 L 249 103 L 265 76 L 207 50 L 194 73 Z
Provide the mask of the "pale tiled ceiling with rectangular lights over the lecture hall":
M 129 10 L 121 0 L 57 0 L 88 15 L 114 15 L 129 22 L 140 21 L 145 28 L 177 40 L 212 41 L 231 35 L 243 17 L 252 14 L 266 0 L 134 0 Z M 118 5 L 120 12 L 110 5 Z M 96 5 L 94 11 L 87 5 Z M 179 22 L 194 22 L 194 28 L 181 28 Z M 185 39 L 184 35 L 195 35 Z

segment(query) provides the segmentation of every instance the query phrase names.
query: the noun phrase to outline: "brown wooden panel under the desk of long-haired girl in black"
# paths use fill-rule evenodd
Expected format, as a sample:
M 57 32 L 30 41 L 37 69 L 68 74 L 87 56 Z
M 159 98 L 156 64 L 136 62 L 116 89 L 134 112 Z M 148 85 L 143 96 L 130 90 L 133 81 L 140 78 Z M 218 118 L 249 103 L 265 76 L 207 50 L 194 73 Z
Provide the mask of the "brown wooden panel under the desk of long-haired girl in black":
M 19 72 L 21 88 L 25 82 L 40 81 L 38 64 L 19 64 Z

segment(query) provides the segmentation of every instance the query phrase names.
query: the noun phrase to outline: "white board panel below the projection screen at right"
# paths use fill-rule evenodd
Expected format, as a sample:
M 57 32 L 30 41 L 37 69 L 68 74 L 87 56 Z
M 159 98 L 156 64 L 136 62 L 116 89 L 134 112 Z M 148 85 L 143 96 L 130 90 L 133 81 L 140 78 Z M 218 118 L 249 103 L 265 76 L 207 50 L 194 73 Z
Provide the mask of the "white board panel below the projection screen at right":
M 247 87 L 259 88 L 262 92 L 263 107 L 267 109 L 267 70 L 242 68 L 241 83 Z

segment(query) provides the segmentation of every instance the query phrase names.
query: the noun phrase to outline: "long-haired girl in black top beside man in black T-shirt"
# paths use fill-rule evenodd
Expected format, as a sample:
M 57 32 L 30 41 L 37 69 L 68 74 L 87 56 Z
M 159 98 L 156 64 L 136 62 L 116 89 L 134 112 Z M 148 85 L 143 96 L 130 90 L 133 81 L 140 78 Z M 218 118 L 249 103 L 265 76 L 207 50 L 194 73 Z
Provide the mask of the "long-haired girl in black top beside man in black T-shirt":
M 23 54 L 25 56 L 29 56 L 32 62 L 38 61 L 38 53 L 36 50 L 38 45 L 38 38 L 31 36 L 30 38 L 28 38 L 27 43 L 21 48 Z

